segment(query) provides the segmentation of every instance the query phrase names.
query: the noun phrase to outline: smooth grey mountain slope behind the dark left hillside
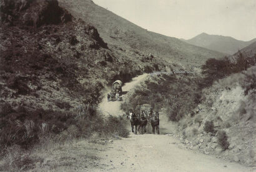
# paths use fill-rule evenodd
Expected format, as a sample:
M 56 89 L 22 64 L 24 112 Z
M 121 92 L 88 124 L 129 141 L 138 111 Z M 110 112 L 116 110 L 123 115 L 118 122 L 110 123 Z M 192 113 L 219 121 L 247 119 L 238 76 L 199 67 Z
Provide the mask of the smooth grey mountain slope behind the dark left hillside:
M 95 25 L 102 38 L 112 46 L 137 50 L 142 55 L 152 53 L 170 62 L 202 65 L 207 58 L 222 57 L 222 53 L 195 47 L 177 38 L 149 32 L 122 17 L 97 6 L 91 0 L 59 0 L 72 15 Z

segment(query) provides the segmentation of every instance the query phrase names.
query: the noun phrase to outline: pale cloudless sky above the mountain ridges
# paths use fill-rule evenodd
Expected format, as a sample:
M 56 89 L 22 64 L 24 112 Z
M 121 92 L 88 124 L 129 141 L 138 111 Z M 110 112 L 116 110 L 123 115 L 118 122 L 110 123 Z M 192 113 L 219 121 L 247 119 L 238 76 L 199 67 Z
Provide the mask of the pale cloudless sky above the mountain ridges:
M 140 27 L 189 39 L 205 32 L 256 38 L 256 0 L 93 0 Z

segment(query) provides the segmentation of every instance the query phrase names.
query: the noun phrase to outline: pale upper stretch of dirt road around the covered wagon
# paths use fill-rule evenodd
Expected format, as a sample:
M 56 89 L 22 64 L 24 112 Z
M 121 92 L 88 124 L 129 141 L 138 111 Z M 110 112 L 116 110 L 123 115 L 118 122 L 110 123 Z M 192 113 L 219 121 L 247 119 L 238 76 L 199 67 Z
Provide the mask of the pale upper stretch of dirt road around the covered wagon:
M 143 81 L 147 77 L 147 74 L 137 76 L 130 81 L 130 83 L 124 84 L 122 86 L 122 91 L 125 93 L 122 95 L 122 101 L 126 101 L 127 95 L 130 94 L 130 91 L 141 81 Z M 110 91 L 110 90 L 109 90 Z M 107 93 L 109 93 L 109 91 Z M 108 115 L 122 115 L 124 112 L 121 111 L 121 101 L 110 101 L 107 102 L 107 93 L 104 95 L 104 99 L 101 104 L 99 104 L 99 108 L 104 112 L 104 114 Z

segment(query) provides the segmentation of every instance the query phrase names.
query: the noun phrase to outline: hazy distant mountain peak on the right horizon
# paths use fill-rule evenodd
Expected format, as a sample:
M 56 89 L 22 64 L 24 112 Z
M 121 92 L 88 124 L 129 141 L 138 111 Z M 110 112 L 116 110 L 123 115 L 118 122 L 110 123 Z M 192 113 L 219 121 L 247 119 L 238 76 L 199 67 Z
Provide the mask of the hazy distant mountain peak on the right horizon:
M 242 40 L 237 40 L 232 37 L 224 37 L 222 35 L 209 35 L 202 33 L 189 40 L 182 40 L 192 45 L 232 55 L 236 53 L 238 50 L 241 50 L 242 48 L 247 47 L 251 43 L 255 42 L 256 38 L 245 42 Z

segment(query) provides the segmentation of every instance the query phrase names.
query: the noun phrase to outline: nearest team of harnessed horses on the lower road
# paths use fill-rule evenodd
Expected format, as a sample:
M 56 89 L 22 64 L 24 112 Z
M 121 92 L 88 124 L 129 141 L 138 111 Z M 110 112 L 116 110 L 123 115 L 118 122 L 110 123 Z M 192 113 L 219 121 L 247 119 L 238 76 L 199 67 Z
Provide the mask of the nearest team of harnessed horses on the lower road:
M 130 118 L 130 125 L 132 127 L 132 132 L 134 132 L 135 127 L 135 134 L 137 134 L 137 130 L 140 131 L 140 134 L 144 134 L 147 132 L 147 124 L 150 123 L 152 126 L 152 133 L 155 134 L 155 129 L 157 130 L 157 134 L 159 132 L 159 112 L 155 111 L 153 113 L 153 109 L 150 108 L 149 113 L 146 114 L 144 110 L 140 112 L 139 115 L 136 115 L 132 109 L 129 110 L 129 118 Z

